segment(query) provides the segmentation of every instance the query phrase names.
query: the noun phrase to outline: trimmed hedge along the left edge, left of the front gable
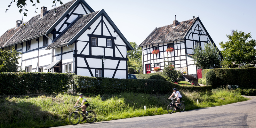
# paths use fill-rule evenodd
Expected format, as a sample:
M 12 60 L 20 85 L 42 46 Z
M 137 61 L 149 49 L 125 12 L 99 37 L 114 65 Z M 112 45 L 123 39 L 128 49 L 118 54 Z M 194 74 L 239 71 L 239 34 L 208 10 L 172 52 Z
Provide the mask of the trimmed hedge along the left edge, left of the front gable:
M 52 94 L 67 92 L 73 74 L 18 72 L 0 73 L 0 94 Z

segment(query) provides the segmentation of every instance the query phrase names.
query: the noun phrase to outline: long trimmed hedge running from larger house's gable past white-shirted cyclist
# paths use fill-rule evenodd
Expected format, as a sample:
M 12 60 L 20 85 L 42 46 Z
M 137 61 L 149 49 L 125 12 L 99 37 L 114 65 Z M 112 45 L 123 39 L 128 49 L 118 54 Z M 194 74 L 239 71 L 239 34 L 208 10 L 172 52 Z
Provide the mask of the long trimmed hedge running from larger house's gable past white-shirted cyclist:
M 137 76 L 136 76 L 137 77 Z M 180 86 L 163 80 L 116 79 L 74 75 L 76 92 L 93 94 L 113 94 L 119 92 L 170 93 L 173 88 L 188 91 L 211 91 L 212 86 Z

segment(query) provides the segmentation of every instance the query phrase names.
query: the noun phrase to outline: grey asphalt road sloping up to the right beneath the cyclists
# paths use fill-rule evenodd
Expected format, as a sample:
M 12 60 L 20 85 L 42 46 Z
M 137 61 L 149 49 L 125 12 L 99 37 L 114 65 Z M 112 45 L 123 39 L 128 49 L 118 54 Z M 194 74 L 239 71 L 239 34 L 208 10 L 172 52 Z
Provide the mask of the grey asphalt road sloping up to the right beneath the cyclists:
M 186 105 L 185 105 L 186 106 Z M 78 124 L 55 128 L 256 128 L 256 99 L 157 116 Z

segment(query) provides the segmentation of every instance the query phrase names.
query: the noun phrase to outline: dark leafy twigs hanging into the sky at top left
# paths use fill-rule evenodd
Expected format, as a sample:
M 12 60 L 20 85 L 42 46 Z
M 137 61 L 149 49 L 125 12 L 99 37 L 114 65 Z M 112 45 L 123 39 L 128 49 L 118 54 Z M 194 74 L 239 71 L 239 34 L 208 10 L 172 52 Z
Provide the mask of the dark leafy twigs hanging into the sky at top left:
M 12 1 L 11 1 L 10 5 L 8 5 L 9 8 L 5 10 L 6 12 L 8 12 L 8 10 L 10 9 L 12 3 L 14 3 L 14 2 L 15 2 L 15 0 L 12 0 Z M 19 11 L 19 12 L 20 12 L 20 13 L 22 12 L 24 16 L 27 16 L 27 13 L 26 13 L 26 12 L 28 12 L 28 10 L 26 9 L 26 6 L 27 6 L 27 3 L 26 3 L 26 2 L 27 2 L 27 0 L 16 0 L 16 3 L 17 3 L 16 5 L 17 5 L 18 8 L 20 8 L 20 11 Z M 39 0 L 35 0 L 35 3 L 34 3 L 33 0 L 30 0 L 30 2 L 33 3 L 32 6 L 35 6 L 35 8 L 38 9 L 38 8 L 36 7 L 36 3 L 39 4 L 39 3 L 40 3 Z M 53 3 L 52 7 L 53 7 L 53 6 L 57 7 L 57 5 L 56 5 L 57 2 L 59 2 L 61 5 L 63 4 L 63 3 L 61 2 L 61 0 L 53 0 L 53 1 L 52 1 L 52 3 Z M 26 12 L 25 12 L 25 11 L 26 11 Z M 36 12 L 36 11 L 35 11 L 35 12 Z

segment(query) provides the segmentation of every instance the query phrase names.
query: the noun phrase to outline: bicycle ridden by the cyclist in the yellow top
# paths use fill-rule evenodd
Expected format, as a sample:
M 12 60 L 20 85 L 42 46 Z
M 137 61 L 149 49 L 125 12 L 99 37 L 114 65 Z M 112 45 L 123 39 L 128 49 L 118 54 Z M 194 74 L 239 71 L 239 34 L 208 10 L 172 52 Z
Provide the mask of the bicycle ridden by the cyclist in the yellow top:
M 69 118 L 68 118 L 69 122 L 70 122 L 71 124 L 73 124 L 73 125 L 76 125 L 76 124 L 78 124 L 79 122 L 84 122 L 84 120 L 86 120 L 86 121 L 89 122 L 89 123 L 95 122 L 95 120 L 96 120 L 96 114 L 95 114 L 95 112 L 92 111 L 92 110 L 90 110 L 90 111 L 88 111 L 88 113 L 83 114 L 83 113 L 82 113 L 82 110 L 79 109 L 80 107 L 81 107 L 81 105 L 74 107 L 74 108 L 77 108 L 77 109 L 76 109 L 76 111 L 71 112 L 71 113 L 69 114 Z M 81 117 L 80 115 L 82 115 L 82 117 L 83 117 L 83 119 L 82 119 L 81 121 L 80 121 L 80 117 Z

